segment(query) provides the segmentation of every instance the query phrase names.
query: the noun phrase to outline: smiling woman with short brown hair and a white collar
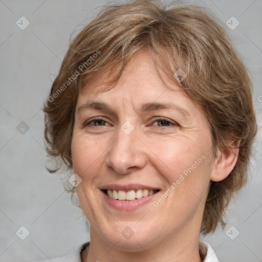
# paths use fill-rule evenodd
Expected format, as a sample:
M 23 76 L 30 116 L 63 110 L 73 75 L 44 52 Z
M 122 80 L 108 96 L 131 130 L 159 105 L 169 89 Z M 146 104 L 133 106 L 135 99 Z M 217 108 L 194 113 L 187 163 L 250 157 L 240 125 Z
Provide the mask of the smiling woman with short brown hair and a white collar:
M 218 261 L 200 232 L 225 226 L 257 127 L 247 69 L 205 10 L 105 7 L 44 111 L 47 151 L 74 173 L 91 236 L 52 261 Z

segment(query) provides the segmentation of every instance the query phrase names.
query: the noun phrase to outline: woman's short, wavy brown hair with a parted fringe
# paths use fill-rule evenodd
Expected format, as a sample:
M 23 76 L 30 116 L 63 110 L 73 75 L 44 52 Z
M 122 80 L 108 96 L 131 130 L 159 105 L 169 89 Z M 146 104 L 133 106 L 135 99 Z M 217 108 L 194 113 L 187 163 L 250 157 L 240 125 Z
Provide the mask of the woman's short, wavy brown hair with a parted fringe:
M 201 106 L 209 122 L 214 156 L 217 148 L 241 141 L 229 176 L 210 182 L 202 233 L 213 232 L 218 224 L 225 226 L 228 203 L 247 181 L 257 125 L 247 68 L 223 25 L 205 8 L 192 4 L 165 7 L 158 0 L 105 6 L 74 38 L 53 82 L 44 108 L 47 152 L 60 160 L 56 170 L 63 164 L 72 168 L 79 92 L 94 74 L 121 62 L 111 83 L 117 81 L 130 57 L 142 48 L 150 50 L 159 71 Z M 173 77 L 179 69 L 187 74 L 182 82 Z

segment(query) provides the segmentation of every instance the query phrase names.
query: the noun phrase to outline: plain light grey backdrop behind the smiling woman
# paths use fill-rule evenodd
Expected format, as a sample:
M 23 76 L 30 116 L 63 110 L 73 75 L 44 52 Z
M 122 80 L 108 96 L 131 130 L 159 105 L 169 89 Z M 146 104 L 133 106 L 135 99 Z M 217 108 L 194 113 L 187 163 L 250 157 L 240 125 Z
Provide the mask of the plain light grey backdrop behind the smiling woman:
M 229 207 L 228 225 L 201 238 L 220 261 L 262 261 L 262 1 L 191 2 L 209 7 L 225 24 L 231 16 L 239 20 L 240 25 L 228 32 L 252 75 L 259 125 L 251 178 Z M 103 4 L 102 0 L 0 0 L 0 261 L 58 257 L 89 241 L 85 220 L 64 192 L 59 175 L 45 169 L 41 107 L 72 32 L 88 23 Z M 30 21 L 24 31 L 16 25 L 21 16 Z M 29 126 L 24 135 L 16 129 L 21 121 Z M 20 226 L 30 231 L 24 241 L 16 235 Z M 240 232 L 234 240 L 226 233 L 231 226 L 231 238 Z

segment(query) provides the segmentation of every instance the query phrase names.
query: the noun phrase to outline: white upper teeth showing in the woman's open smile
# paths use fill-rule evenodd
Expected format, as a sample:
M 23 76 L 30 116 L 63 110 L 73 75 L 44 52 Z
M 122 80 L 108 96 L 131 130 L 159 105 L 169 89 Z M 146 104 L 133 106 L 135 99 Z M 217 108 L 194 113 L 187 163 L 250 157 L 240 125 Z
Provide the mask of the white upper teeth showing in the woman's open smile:
M 141 199 L 143 197 L 148 197 L 148 195 L 151 195 L 154 193 L 154 190 L 152 189 L 138 189 L 138 190 L 130 190 L 130 191 L 122 191 L 122 190 L 112 190 L 107 189 L 107 195 L 111 199 L 118 199 L 118 200 L 135 200 L 135 199 Z

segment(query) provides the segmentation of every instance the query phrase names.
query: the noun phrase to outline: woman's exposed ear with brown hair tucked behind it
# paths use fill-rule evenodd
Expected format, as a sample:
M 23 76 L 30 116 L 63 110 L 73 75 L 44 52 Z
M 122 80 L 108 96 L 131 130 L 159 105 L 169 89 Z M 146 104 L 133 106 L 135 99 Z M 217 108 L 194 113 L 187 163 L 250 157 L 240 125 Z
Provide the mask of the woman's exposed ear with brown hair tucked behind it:
M 217 157 L 210 177 L 211 181 L 219 182 L 228 177 L 236 164 L 239 144 L 240 140 L 230 143 L 231 149 L 222 147 L 217 150 Z

